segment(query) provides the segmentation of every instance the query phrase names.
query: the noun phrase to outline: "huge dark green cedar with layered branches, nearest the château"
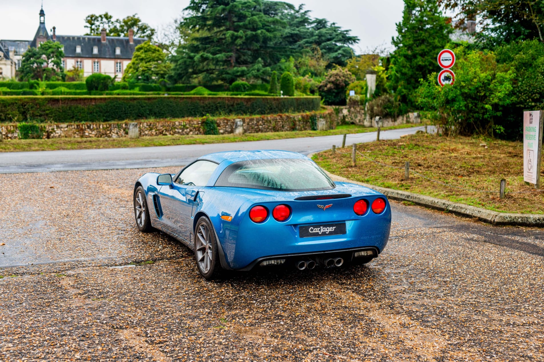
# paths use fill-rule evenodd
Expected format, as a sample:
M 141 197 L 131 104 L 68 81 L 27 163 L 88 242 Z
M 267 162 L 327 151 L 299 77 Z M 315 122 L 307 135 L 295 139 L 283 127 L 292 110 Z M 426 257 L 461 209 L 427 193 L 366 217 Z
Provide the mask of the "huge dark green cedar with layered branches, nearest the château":
M 285 23 L 261 8 L 262 0 L 191 0 L 183 26 L 196 36 L 176 51 L 174 79 L 231 84 L 249 73 L 267 79 L 270 50 Z

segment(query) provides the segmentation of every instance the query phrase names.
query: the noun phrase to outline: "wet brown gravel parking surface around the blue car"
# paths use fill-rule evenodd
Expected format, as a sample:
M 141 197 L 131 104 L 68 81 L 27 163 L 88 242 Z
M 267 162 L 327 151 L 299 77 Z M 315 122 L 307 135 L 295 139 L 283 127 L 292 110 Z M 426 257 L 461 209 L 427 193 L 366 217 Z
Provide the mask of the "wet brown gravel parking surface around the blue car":
M 393 203 L 367 266 L 210 283 L 135 229 L 145 171 L 0 175 L 0 360 L 544 360 L 542 230 Z

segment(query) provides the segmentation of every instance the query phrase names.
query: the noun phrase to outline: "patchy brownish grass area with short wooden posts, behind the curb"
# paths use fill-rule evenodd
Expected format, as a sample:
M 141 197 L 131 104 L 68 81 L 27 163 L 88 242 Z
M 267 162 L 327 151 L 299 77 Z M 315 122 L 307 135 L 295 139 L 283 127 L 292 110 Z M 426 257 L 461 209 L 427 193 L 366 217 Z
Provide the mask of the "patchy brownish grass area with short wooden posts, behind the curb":
M 352 167 L 351 148 L 339 149 L 349 155 L 333 156 L 331 151 L 324 151 L 314 155 L 314 160 L 333 174 L 370 185 L 429 195 L 498 212 L 544 213 L 544 192 L 531 192 L 534 187 L 523 181 L 521 142 L 414 134 L 399 140 L 359 144 L 357 150 L 375 161 L 402 169 L 385 167 L 360 155 L 357 155 L 357 166 Z M 496 193 L 443 186 L 413 173 L 409 181 L 404 181 L 406 161 L 410 162 L 411 171 L 431 179 Z M 544 176 L 544 167 L 541 172 Z M 501 179 L 506 180 L 504 200 L 500 200 L 498 193 Z

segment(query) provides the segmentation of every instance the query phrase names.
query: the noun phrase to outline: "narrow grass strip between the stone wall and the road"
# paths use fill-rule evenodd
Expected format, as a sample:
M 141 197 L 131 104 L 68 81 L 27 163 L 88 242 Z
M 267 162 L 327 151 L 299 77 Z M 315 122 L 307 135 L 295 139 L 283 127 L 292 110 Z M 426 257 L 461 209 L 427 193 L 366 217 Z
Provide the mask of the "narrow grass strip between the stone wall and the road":
M 394 128 L 409 128 L 421 125 L 399 125 L 384 127 L 383 130 Z M 147 146 L 192 145 L 208 143 L 227 143 L 260 141 L 264 139 L 284 139 L 300 137 L 331 136 L 343 133 L 374 132 L 376 128 L 367 128 L 358 125 L 338 126 L 330 131 L 293 131 L 246 133 L 242 135 L 221 134 L 219 136 L 154 136 L 131 139 L 123 138 L 51 138 L 51 139 L 11 139 L 0 142 L 0 152 L 10 151 L 46 151 L 46 150 L 78 150 L 100 148 L 128 148 Z

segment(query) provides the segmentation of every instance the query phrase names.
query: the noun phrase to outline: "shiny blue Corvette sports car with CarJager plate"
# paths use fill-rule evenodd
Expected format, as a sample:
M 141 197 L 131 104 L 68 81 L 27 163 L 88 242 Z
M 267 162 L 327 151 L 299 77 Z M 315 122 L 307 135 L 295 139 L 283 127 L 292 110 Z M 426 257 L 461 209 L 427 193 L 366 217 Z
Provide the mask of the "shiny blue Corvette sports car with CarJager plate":
M 385 195 L 333 182 L 310 158 L 287 151 L 202 156 L 175 175 L 134 186 L 140 231 L 162 230 L 194 250 L 206 279 L 222 270 L 367 263 L 391 229 Z

